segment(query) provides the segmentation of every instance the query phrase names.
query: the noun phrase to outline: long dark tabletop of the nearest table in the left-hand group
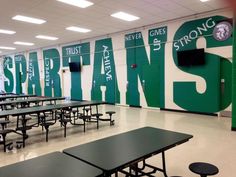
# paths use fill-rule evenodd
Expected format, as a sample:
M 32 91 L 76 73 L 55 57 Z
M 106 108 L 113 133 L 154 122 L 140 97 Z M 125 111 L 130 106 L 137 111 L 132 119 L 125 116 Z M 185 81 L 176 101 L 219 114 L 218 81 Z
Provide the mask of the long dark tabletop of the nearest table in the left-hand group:
M 65 108 L 73 108 L 73 107 L 83 107 L 83 106 L 93 106 L 105 104 L 103 101 L 73 101 L 73 102 L 65 102 L 62 104 L 56 105 L 46 105 L 46 106 L 37 106 L 37 107 L 29 107 L 23 109 L 12 109 L 12 110 L 4 110 L 0 112 L 0 118 L 6 116 L 18 116 L 18 115 L 27 115 L 38 112 L 46 112 L 51 110 L 65 109 Z

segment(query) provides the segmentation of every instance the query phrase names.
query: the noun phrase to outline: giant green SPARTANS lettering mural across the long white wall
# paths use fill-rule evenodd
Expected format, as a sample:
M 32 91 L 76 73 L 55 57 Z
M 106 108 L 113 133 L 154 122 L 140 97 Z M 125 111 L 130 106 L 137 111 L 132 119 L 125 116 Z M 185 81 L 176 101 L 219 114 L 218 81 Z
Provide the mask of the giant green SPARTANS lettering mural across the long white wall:
M 206 62 L 203 66 L 179 66 L 177 52 L 198 48 L 197 42 L 200 38 L 206 40 L 207 49 L 230 47 L 232 37 L 226 41 L 217 41 L 212 36 L 215 25 L 224 18 L 213 16 L 184 22 L 176 25 L 176 29 L 172 29 L 173 25 L 171 29 L 169 26 L 163 26 L 120 35 L 116 40 L 109 37 L 94 42 L 30 52 L 28 58 L 26 54 L 5 56 L 3 70 L 5 90 L 13 92 L 15 88 L 16 93 L 21 93 L 22 84 L 27 83 L 29 94 L 62 96 L 62 71 L 69 67 L 70 62 L 80 62 L 82 70 L 71 72 L 71 85 L 68 86 L 73 99 L 84 99 L 82 82 L 86 82 L 86 77 L 91 76 L 92 78 L 87 80 L 92 81 L 90 90 L 92 100 L 104 98 L 104 101 L 109 103 L 142 106 L 142 94 L 148 107 L 181 108 L 204 113 L 219 112 L 231 104 L 231 62 L 224 56 L 206 52 Z M 123 46 L 120 51 L 117 51 L 118 42 L 118 46 Z M 169 66 L 166 62 L 169 59 L 166 53 L 167 45 L 171 45 L 172 48 L 172 53 L 168 54 L 172 56 L 172 60 L 168 61 L 172 61 L 173 66 Z M 93 48 L 94 51 L 91 50 Z M 43 76 L 39 69 L 40 52 L 43 56 Z M 13 66 L 13 58 L 15 66 Z M 127 74 L 117 72 L 120 66 L 116 63 L 120 61 L 125 63 Z M 92 75 L 85 73 L 83 70 L 85 66 L 92 68 Z M 165 87 L 169 87 L 166 84 L 169 76 L 166 77 L 166 74 L 173 74 L 170 71 L 173 67 L 177 67 L 175 75 L 186 73 L 190 80 L 191 76 L 202 78 L 206 85 L 205 91 L 203 93 L 197 91 L 195 80 L 181 81 L 180 79 L 173 81 L 171 85 L 173 98 L 167 98 Z M 118 77 L 117 73 L 122 73 L 122 77 Z M 40 82 L 42 77 L 44 78 L 43 85 Z M 82 80 L 82 78 L 85 79 Z M 118 78 L 124 79 L 118 80 Z M 42 88 L 44 88 L 43 92 Z M 102 88 L 105 88 L 104 93 Z M 125 102 L 121 103 L 121 99 Z M 176 106 L 169 106 L 166 103 L 167 99 Z

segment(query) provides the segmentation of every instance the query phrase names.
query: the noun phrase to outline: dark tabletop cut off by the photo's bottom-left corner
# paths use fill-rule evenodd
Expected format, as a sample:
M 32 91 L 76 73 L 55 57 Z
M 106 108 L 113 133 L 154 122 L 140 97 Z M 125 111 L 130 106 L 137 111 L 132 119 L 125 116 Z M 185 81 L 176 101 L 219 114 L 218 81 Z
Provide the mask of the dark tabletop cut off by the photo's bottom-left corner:
M 95 177 L 102 171 L 60 152 L 0 168 L 0 177 Z

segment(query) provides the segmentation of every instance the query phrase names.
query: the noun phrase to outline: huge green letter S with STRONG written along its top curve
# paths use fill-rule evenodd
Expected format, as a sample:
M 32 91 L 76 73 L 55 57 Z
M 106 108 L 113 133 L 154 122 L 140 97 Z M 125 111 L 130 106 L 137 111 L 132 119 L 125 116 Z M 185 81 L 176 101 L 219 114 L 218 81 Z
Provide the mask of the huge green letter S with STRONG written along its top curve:
M 177 51 L 196 49 L 198 38 L 204 37 L 206 48 L 230 46 L 232 38 L 224 42 L 212 36 L 217 21 L 224 17 L 214 16 L 184 23 L 176 32 L 173 44 L 173 57 L 176 66 L 184 72 L 200 76 L 206 82 L 206 91 L 198 93 L 196 82 L 174 82 L 174 102 L 183 109 L 194 112 L 214 113 L 225 109 L 231 103 L 232 64 L 227 59 L 205 53 L 202 66 L 178 66 Z M 224 82 L 224 89 L 220 89 Z

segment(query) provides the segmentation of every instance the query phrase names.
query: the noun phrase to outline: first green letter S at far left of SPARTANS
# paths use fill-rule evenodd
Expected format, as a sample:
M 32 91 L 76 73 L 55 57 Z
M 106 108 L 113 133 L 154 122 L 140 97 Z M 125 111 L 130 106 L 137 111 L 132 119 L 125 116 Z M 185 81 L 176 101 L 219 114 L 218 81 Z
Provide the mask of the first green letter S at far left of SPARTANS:
M 4 87 L 6 92 L 13 92 L 14 89 L 14 78 L 10 69 L 13 68 L 13 60 L 11 57 L 5 57 L 3 62 L 3 71 L 5 78 L 8 80 L 4 81 Z

